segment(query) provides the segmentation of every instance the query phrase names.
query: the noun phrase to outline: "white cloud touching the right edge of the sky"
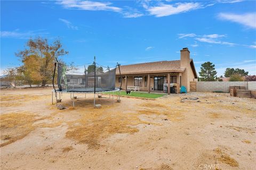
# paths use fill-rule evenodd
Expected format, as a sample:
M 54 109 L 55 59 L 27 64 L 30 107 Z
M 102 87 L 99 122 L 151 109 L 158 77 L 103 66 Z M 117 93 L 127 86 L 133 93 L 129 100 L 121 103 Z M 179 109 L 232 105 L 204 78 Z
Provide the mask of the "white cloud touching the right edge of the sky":
M 232 13 L 219 13 L 219 19 L 229 20 L 248 28 L 256 28 L 256 13 L 246 13 L 246 14 L 232 14 Z

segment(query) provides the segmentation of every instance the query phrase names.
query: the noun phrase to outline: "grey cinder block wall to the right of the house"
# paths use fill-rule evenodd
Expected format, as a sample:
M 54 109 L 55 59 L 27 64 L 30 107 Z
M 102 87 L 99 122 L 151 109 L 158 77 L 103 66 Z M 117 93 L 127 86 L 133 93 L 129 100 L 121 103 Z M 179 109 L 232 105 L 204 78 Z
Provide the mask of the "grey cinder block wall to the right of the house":
M 256 82 L 250 84 L 250 88 L 256 86 Z M 248 89 L 247 81 L 197 81 L 196 91 L 223 91 L 228 92 L 229 86 L 244 86 Z

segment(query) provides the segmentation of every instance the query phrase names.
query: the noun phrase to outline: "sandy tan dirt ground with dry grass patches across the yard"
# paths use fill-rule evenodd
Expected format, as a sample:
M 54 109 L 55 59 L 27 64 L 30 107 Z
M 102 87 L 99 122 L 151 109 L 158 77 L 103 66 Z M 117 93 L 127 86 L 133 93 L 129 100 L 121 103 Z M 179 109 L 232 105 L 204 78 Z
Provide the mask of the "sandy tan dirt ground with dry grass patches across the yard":
M 103 96 L 94 109 L 92 94 L 75 108 L 62 94 L 59 110 L 51 90 L 1 90 L 1 169 L 256 169 L 255 99 Z

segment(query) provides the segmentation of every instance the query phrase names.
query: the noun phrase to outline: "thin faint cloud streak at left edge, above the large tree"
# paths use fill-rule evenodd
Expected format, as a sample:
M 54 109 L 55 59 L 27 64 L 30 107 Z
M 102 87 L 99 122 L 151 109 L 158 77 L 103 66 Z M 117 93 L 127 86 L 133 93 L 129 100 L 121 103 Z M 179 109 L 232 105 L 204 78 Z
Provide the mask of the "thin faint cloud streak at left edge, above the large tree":
M 28 39 L 35 36 L 47 35 L 48 32 L 44 32 L 44 30 L 36 30 L 36 31 L 27 31 L 20 32 L 19 29 L 14 31 L 1 31 L 2 38 L 19 38 L 19 39 Z

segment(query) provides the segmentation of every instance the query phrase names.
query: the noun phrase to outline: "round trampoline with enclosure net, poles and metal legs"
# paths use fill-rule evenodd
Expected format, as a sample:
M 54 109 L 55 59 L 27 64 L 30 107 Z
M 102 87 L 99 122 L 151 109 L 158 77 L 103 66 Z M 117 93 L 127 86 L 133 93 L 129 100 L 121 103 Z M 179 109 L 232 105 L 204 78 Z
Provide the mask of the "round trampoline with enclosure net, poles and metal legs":
M 95 62 L 88 63 L 86 65 L 73 66 L 71 69 L 68 65 L 58 62 L 55 58 L 54 72 L 53 72 L 53 91 L 52 91 L 52 104 L 53 104 L 53 92 L 55 92 L 56 105 L 60 101 L 60 94 L 70 94 L 70 99 L 73 100 L 73 107 L 75 107 L 74 94 L 94 94 L 93 105 L 95 107 L 95 94 L 101 94 L 103 92 L 113 92 L 114 103 L 114 91 L 120 91 L 122 87 L 115 87 L 116 82 L 116 69 L 121 71 L 119 64 L 115 67 L 102 66 Z M 81 67 L 83 66 L 83 67 Z M 87 66 L 87 67 L 86 67 Z M 58 89 L 55 89 L 54 78 L 57 69 L 57 84 Z M 122 79 L 121 79 L 122 80 Z M 59 94 L 59 99 L 58 95 Z M 120 93 L 119 93 L 120 94 Z M 73 97 L 71 96 L 73 95 Z M 118 101 L 120 101 L 120 95 L 118 95 Z

